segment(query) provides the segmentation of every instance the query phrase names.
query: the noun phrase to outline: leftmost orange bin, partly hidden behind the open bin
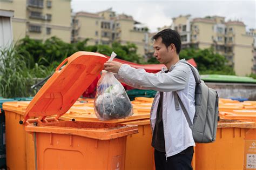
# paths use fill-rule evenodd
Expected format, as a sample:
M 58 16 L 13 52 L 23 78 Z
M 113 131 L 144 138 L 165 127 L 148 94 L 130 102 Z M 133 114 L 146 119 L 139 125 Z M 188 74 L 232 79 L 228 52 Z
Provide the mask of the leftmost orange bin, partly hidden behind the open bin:
M 35 169 L 35 149 L 31 134 L 19 124 L 29 102 L 5 103 L 6 165 L 9 169 Z M 13 108 L 13 109 L 12 109 Z M 17 159 L 19 158 L 19 159 Z

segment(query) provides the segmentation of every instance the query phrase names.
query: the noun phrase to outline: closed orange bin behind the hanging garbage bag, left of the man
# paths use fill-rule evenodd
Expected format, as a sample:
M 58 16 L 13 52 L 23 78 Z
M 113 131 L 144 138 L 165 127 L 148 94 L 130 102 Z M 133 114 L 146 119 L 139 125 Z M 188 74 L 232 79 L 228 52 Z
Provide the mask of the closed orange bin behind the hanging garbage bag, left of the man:
M 60 120 L 76 120 L 91 122 L 122 123 L 126 125 L 137 125 L 138 133 L 127 136 L 125 170 L 151 170 L 153 167 L 153 147 L 151 146 L 152 132 L 150 127 L 150 113 L 133 113 L 131 117 L 118 120 L 100 121 L 91 109 L 84 106 L 72 106 Z

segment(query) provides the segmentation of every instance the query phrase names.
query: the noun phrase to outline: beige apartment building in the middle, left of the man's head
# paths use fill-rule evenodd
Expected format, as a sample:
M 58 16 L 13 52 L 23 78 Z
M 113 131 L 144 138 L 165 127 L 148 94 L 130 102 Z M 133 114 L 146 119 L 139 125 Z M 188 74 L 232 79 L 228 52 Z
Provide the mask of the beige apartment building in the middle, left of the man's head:
M 112 8 L 97 13 L 77 12 L 72 19 L 72 42 L 89 38 L 88 45 L 111 45 L 134 43 L 142 56 L 147 49 L 148 29 L 134 21 L 132 16 L 112 11 Z

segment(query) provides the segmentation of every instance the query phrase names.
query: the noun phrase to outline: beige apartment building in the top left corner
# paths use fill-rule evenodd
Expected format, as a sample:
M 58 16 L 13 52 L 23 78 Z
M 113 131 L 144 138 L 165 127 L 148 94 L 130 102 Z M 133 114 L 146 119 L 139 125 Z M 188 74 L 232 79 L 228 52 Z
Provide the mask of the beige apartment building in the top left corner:
M 32 39 L 56 36 L 64 42 L 71 39 L 70 0 L 1 0 L 0 9 L 14 10 L 14 41 L 28 35 Z

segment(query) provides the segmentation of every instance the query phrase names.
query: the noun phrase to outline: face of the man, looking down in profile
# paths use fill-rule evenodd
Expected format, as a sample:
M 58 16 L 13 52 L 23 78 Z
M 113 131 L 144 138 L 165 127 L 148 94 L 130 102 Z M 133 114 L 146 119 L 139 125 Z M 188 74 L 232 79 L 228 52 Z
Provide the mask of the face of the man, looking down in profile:
M 161 37 L 154 40 L 153 48 L 154 48 L 154 57 L 157 58 L 159 63 L 167 64 L 170 62 L 171 56 L 172 56 L 170 46 L 166 47 L 165 44 L 162 43 Z

